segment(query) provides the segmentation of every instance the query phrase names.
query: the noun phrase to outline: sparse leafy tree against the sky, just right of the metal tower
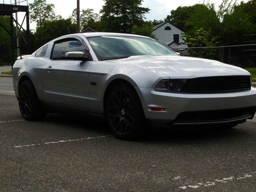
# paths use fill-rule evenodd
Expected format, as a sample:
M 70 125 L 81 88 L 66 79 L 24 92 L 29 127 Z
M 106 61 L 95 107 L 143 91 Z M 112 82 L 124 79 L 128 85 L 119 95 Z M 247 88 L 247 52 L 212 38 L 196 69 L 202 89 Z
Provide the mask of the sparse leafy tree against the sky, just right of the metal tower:
M 34 0 L 33 3 L 29 4 L 29 8 L 30 18 L 33 22 L 36 22 L 37 27 L 42 26 L 46 20 L 52 21 L 56 19 L 53 11 L 54 5 L 47 4 L 46 0 Z

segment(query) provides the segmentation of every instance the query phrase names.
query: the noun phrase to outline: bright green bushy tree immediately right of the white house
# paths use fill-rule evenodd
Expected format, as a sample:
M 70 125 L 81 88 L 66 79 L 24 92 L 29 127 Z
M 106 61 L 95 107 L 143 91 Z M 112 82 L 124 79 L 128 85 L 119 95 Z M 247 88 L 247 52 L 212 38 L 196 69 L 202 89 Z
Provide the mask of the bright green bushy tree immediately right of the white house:
M 217 37 L 211 37 L 209 31 L 199 28 L 194 34 L 185 34 L 188 47 L 214 47 L 218 45 Z M 188 49 L 191 56 L 202 58 L 215 58 L 216 51 L 214 49 Z

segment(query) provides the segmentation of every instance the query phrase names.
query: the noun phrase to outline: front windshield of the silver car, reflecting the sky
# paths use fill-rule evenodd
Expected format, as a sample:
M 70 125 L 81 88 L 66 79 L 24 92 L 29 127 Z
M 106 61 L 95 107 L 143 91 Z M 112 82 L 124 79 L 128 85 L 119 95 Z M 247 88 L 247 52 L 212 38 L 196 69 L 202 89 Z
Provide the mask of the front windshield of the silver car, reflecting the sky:
M 88 40 L 100 60 L 134 55 L 176 55 L 158 41 L 136 36 L 93 36 Z

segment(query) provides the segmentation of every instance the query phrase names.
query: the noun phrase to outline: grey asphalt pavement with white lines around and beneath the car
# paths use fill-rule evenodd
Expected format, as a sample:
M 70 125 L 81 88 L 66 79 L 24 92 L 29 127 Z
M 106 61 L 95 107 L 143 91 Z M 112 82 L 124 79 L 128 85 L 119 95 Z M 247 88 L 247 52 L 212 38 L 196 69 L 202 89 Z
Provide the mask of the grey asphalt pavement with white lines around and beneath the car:
M 0 90 L 12 91 L 11 78 Z M 5 89 L 5 90 L 3 90 Z M 104 121 L 24 121 L 0 92 L 0 191 L 256 191 L 256 124 L 111 136 Z

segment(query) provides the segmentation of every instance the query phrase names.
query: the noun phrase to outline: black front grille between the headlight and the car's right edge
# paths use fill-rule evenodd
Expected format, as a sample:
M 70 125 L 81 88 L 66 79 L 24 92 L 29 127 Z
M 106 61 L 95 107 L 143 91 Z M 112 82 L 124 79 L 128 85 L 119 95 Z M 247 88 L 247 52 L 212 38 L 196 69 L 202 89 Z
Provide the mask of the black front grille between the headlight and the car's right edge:
M 250 76 L 214 76 L 187 79 L 181 89 L 185 93 L 225 93 L 251 89 Z

